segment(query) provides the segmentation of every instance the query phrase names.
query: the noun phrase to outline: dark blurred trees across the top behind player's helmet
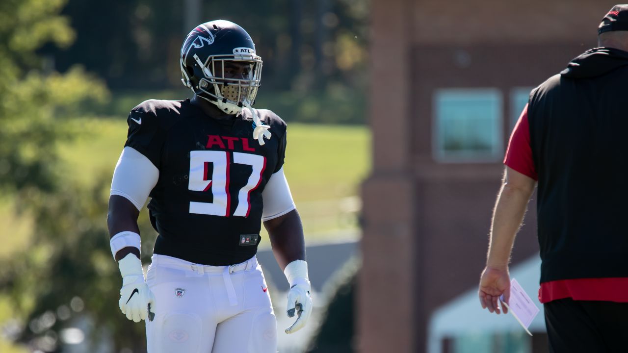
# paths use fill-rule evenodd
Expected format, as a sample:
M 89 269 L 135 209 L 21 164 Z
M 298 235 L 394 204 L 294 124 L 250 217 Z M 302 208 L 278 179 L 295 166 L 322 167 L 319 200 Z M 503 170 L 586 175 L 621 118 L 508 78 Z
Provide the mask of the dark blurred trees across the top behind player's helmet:
M 362 124 L 368 9 L 361 0 L 75 0 L 63 9 L 78 29 L 75 41 L 41 53 L 58 70 L 80 62 L 97 73 L 116 94 L 95 111 L 127 114 L 129 93 L 136 98 L 130 107 L 187 94 L 181 41 L 198 23 L 228 19 L 246 28 L 264 60 L 256 107 L 288 121 Z

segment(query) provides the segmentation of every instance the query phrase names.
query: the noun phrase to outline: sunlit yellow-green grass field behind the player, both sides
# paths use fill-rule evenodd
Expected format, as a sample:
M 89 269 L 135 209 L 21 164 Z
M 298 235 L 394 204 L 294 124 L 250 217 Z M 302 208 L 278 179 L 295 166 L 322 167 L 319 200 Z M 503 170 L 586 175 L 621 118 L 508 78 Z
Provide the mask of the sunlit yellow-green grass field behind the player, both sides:
M 97 176 L 109 180 L 126 139 L 126 119 L 84 119 L 75 124 L 80 137 L 59 147 L 63 178 L 85 184 Z M 357 229 L 357 195 L 370 168 L 370 139 L 364 126 L 288 126 L 284 171 L 308 241 Z

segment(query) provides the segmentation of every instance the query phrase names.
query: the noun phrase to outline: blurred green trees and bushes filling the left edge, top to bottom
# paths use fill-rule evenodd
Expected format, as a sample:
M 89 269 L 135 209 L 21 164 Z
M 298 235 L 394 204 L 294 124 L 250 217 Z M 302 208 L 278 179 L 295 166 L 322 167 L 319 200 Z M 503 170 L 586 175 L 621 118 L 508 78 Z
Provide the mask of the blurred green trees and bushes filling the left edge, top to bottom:
M 79 315 L 112 317 L 115 301 L 106 306 L 103 297 L 117 295 L 104 229 L 104 182 L 81 190 L 56 168 L 58 143 L 80 133 L 68 122 L 109 95 L 82 67 L 55 72 L 38 53 L 46 43 L 67 47 L 75 38 L 68 18 L 59 15 L 64 4 L 0 2 L 0 190 L 13 195 L 35 229 L 28 250 L 0 264 L 0 302 L 15 315 L 14 336 L 44 351 L 58 349 L 60 330 Z

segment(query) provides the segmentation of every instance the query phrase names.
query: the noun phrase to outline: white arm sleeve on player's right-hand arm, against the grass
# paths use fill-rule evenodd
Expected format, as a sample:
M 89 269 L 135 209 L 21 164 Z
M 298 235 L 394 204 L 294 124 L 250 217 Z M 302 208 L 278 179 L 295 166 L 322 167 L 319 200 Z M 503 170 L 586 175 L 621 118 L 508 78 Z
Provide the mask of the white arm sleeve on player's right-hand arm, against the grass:
M 288 186 L 288 180 L 286 180 L 286 175 L 283 173 L 283 166 L 279 171 L 271 175 L 262 192 L 262 198 L 264 200 L 264 210 L 262 211 L 262 220 L 264 222 L 296 209 L 290 193 L 290 187 Z

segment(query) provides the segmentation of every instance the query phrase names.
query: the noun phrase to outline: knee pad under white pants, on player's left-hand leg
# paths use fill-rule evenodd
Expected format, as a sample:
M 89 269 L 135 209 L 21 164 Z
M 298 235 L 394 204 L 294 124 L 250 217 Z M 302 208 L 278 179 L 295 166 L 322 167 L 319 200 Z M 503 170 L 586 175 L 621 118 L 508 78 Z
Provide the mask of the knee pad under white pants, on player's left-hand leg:
M 202 321 L 188 313 L 166 313 L 146 325 L 148 353 L 198 352 Z

